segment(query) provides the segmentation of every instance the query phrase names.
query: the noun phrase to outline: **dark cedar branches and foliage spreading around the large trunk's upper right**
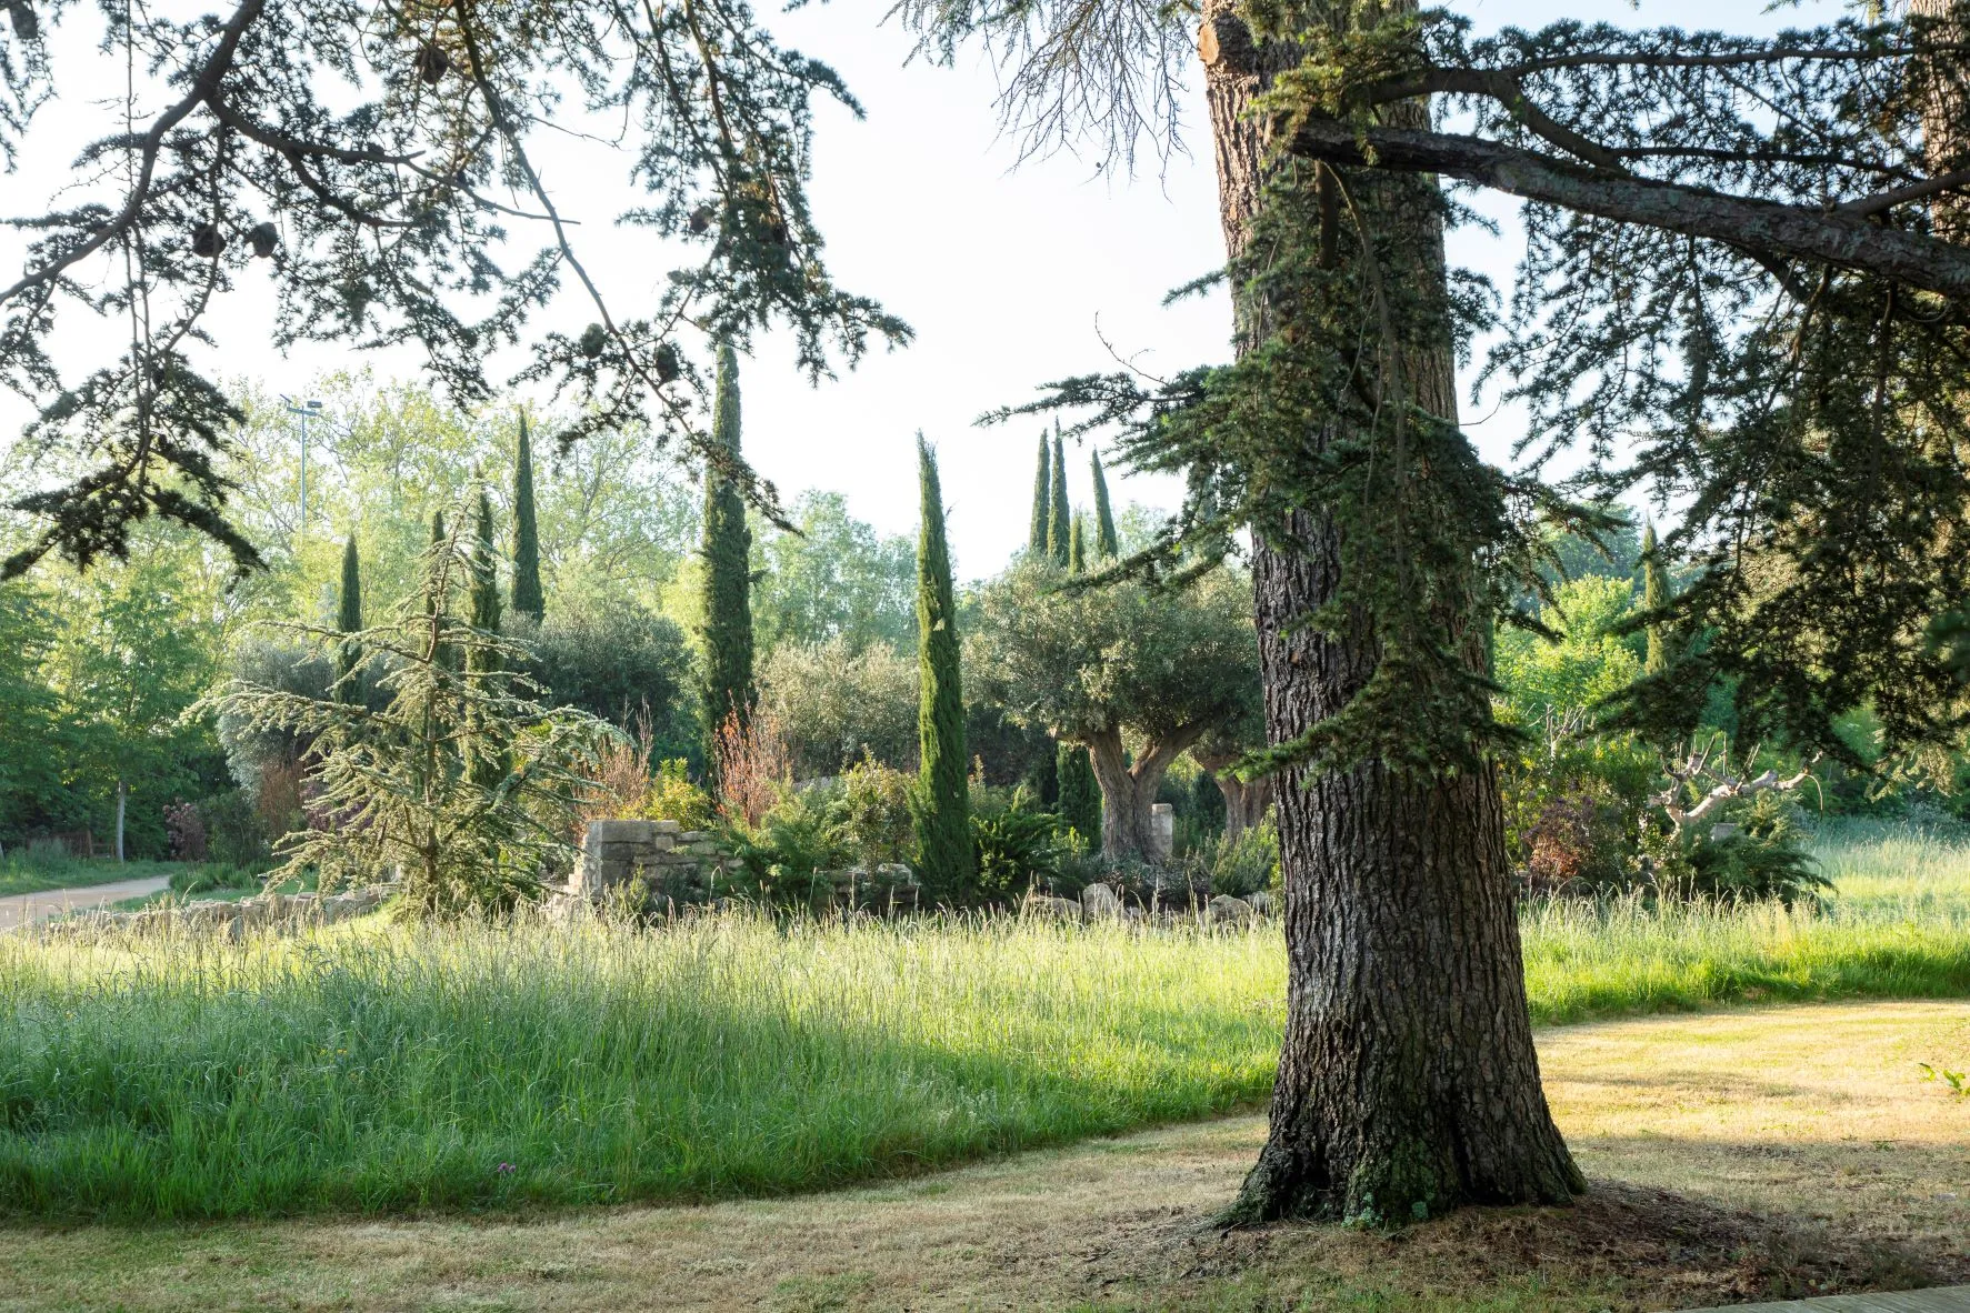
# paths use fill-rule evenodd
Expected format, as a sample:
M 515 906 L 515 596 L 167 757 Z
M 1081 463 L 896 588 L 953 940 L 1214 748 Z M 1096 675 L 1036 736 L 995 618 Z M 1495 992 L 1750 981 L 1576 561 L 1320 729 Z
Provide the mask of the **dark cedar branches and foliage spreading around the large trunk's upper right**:
M 1103 77 L 1101 61 L 1048 53 L 1113 8 L 1198 22 L 1149 0 L 906 0 L 898 16 L 930 53 L 979 37 L 1013 61 L 1011 126 L 1091 130 L 1113 154 L 1103 134 L 1135 128 L 1085 112 L 1101 96 L 1082 83 Z M 1970 598 L 1970 0 L 1891 10 L 1773 37 L 1566 22 L 1479 39 L 1444 10 L 1210 6 L 1190 57 L 1214 73 L 1265 67 L 1279 163 L 1275 215 L 1251 242 L 1261 256 L 1227 278 L 1239 303 L 1300 309 L 1235 366 L 1074 378 L 1040 406 L 1091 407 L 1078 431 L 1119 429 L 1137 467 L 1190 474 L 1186 512 L 1154 549 L 1164 559 L 1322 508 L 1363 539 L 1346 549 L 1340 610 L 1369 616 L 1418 675 L 1448 675 L 1458 646 L 1422 600 L 1432 555 L 1483 561 L 1501 618 L 1521 622 L 1537 581 L 1511 575 L 1539 563 L 1525 514 L 1645 494 L 1673 512 L 1665 551 L 1692 579 L 1647 618 L 1676 659 L 1615 722 L 1686 732 L 1722 679 L 1747 732 L 1842 760 L 1854 754 L 1834 724 L 1864 705 L 1889 742 L 1954 738 L 1970 722 L 1952 646 Z M 1131 55 L 1158 49 L 1135 37 Z M 1143 85 L 1137 71 L 1109 94 Z M 1430 415 L 1391 404 L 1399 350 L 1375 341 L 1422 341 L 1436 329 L 1403 319 L 1426 307 L 1336 262 L 1379 240 L 1349 232 L 1346 203 L 1377 175 L 1450 181 L 1450 220 L 1468 219 L 1462 189 L 1525 201 L 1503 313 L 1479 281 L 1450 283 L 1450 331 L 1466 348 L 1489 335 L 1479 384 L 1531 417 L 1517 472 L 1491 492 Z M 1318 358 L 1342 368 L 1322 374 Z M 1326 451 L 1253 427 L 1349 413 L 1365 443 Z M 1546 478 L 1562 453 L 1574 472 Z M 1381 705 L 1363 695 L 1349 715 L 1381 736 L 1355 746 L 1466 760 L 1416 717 L 1383 713 L 1405 685 L 1462 687 L 1464 736 L 1481 740 L 1476 681 L 1383 673 L 1367 691 L 1387 683 Z

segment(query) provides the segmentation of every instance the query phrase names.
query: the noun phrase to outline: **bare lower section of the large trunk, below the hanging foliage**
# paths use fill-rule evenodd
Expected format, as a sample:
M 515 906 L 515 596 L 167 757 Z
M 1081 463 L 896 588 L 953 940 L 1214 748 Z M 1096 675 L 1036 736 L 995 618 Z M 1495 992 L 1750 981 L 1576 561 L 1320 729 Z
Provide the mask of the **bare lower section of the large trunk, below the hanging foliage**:
M 1227 1220 L 1403 1226 L 1584 1191 L 1539 1081 L 1495 772 L 1286 785 L 1280 831 L 1286 1033 Z

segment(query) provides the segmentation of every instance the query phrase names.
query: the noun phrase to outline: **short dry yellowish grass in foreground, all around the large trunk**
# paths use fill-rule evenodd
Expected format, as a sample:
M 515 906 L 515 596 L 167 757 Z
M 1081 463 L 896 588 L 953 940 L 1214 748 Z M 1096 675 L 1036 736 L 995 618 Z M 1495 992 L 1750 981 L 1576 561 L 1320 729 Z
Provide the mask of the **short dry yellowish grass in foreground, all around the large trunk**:
M 1212 1215 L 1259 1116 L 879 1187 L 548 1217 L 0 1230 L 0 1309 L 1678 1309 L 1970 1282 L 1970 1006 L 1550 1030 L 1594 1191 L 1397 1234 Z

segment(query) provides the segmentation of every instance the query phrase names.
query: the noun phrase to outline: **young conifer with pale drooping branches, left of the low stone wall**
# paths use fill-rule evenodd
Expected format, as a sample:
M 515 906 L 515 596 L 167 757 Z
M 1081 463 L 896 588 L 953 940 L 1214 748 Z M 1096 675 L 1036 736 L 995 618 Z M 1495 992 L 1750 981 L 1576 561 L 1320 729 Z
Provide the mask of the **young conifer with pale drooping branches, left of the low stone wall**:
M 380 709 L 252 683 L 215 699 L 242 724 L 313 742 L 321 821 L 282 841 L 280 878 L 313 870 L 323 888 L 339 888 L 402 872 L 406 911 L 451 917 L 512 909 L 573 860 L 575 819 L 617 732 L 581 711 L 542 707 L 542 689 L 522 673 L 465 673 L 518 669 L 526 656 L 459 614 L 477 585 L 477 563 L 445 537 L 396 614 L 357 634 Z M 341 640 L 319 626 L 278 628 Z

